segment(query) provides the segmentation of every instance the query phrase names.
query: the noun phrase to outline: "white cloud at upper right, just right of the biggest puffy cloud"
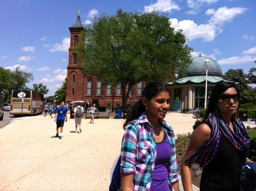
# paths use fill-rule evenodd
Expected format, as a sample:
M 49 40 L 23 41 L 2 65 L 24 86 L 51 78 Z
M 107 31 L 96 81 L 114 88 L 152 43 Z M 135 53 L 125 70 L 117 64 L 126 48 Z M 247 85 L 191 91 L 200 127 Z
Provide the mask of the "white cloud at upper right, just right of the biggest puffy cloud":
M 218 10 L 208 9 L 205 14 L 213 15 L 208 22 L 214 25 L 222 25 L 224 22 L 230 22 L 236 15 L 243 14 L 247 8 L 242 7 L 220 7 Z

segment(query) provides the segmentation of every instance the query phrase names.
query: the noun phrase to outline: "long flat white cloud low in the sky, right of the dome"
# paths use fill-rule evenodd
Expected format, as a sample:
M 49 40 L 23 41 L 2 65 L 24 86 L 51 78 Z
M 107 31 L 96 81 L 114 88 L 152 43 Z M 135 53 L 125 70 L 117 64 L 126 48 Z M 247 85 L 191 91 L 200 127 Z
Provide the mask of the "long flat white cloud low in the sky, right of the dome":
M 222 65 L 222 64 L 246 64 L 248 62 L 254 62 L 256 60 L 256 56 L 234 56 L 231 58 L 225 58 L 225 59 L 221 59 L 218 60 L 217 63 Z

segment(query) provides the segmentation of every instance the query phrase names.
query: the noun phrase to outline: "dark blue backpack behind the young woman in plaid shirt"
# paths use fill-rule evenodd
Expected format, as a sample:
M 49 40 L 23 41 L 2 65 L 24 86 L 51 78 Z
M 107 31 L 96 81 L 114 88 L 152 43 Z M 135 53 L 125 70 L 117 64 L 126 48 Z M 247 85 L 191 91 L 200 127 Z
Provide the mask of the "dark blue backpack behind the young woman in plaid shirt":
M 114 169 L 114 172 L 112 174 L 111 183 L 109 185 L 109 191 L 120 191 L 121 190 L 121 155 L 119 156 L 119 159 L 116 163 L 116 167 Z

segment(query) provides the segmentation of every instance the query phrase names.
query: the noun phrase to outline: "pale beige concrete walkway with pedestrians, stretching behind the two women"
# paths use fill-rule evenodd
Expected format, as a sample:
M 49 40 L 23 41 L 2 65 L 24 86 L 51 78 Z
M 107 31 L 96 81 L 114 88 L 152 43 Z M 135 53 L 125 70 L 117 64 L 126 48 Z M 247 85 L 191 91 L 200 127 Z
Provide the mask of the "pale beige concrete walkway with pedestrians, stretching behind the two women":
M 192 114 L 166 115 L 175 134 L 192 132 Z M 111 171 L 120 155 L 123 119 L 74 119 L 56 135 L 54 118 L 16 118 L 0 129 L 0 190 L 108 191 Z M 181 181 L 180 181 L 181 182 Z

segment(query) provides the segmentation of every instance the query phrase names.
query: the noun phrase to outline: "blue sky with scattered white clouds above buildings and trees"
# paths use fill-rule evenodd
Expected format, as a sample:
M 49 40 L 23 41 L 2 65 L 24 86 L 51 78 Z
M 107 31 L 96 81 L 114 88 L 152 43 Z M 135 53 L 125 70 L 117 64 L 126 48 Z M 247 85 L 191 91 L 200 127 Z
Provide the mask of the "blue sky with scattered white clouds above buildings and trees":
M 222 68 L 256 67 L 255 0 L 0 0 L 0 66 L 34 75 L 51 96 L 66 77 L 70 32 L 80 10 L 86 25 L 100 12 L 168 14 L 171 26 L 182 28 L 192 56 L 208 56 Z

